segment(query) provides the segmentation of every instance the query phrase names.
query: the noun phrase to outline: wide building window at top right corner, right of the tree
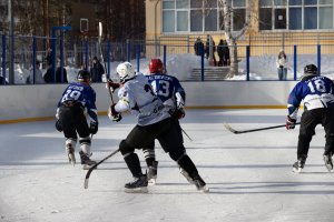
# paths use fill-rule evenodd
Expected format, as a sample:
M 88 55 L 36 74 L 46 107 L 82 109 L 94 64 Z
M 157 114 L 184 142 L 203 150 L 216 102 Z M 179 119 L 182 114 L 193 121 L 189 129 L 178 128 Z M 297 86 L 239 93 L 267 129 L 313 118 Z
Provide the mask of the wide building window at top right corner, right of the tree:
M 333 0 L 259 0 L 259 30 L 333 29 Z

